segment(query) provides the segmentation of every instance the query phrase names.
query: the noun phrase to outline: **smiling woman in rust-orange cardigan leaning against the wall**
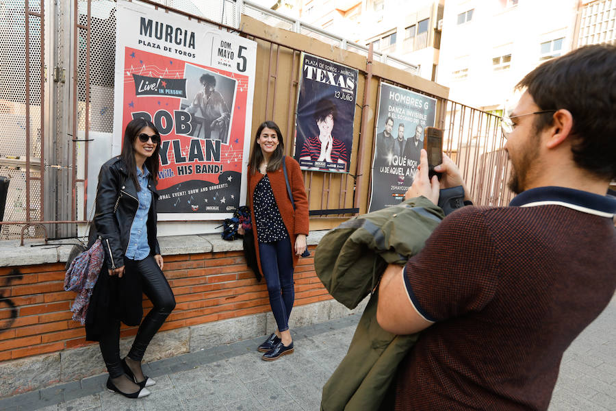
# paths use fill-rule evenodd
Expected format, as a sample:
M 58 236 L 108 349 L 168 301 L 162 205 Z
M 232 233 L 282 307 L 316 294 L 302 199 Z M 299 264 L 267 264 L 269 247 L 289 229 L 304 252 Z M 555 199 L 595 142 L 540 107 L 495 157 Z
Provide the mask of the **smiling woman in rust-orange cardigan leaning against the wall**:
M 259 269 L 268 284 L 270 307 L 278 329 L 259 345 L 266 361 L 293 352 L 289 316 L 295 291 L 293 270 L 306 251 L 308 200 L 296 160 L 283 155 L 283 136 L 273 121 L 259 125 L 248 162 L 248 198 Z M 284 164 L 283 164 L 284 162 Z M 287 169 L 295 210 L 287 193 Z

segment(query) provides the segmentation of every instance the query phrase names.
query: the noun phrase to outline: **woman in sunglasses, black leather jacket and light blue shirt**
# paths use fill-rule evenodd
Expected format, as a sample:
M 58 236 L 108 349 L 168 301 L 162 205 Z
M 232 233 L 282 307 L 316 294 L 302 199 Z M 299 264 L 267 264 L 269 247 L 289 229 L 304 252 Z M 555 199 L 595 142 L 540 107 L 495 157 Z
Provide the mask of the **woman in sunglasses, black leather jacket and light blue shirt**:
M 160 135 L 153 123 L 128 123 L 122 153 L 105 162 L 99 173 L 96 214 L 90 243 L 100 238 L 105 267 L 94 287 L 86 317 L 88 340 L 98 340 L 109 371 L 107 388 L 125 397 L 149 395 L 141 361 L 154 334 L 175 308 L 175 297 L 162 272 L 156 239 L 155 184 Z M 120 360 L 120 320 L 141 322 L 142 291 L 153 308 L 141 323 L 128 355 Z

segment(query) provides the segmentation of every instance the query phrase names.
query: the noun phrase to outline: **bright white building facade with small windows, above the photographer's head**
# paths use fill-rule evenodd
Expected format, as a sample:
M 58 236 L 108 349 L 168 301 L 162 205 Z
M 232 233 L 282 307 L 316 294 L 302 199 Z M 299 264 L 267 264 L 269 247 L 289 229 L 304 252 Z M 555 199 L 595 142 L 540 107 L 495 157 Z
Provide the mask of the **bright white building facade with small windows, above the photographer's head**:
M 500 115 L 526 73 L 574 48 L 577 11 L 578 0 L 447 0 L 437 81 Z

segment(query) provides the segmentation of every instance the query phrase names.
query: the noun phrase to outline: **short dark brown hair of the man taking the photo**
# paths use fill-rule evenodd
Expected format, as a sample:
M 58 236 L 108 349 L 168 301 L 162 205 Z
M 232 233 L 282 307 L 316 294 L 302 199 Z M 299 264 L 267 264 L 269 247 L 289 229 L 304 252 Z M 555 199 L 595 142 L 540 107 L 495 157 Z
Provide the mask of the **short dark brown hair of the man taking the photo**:
M 539 110 L 569 110 L 574 162 L 599 177 L 616 178 L 616 46 L 589 45 L 549 60 L 517 88 L 527 88 Z M 540 114 L 535 127 L 552 121 L 552 113 Z

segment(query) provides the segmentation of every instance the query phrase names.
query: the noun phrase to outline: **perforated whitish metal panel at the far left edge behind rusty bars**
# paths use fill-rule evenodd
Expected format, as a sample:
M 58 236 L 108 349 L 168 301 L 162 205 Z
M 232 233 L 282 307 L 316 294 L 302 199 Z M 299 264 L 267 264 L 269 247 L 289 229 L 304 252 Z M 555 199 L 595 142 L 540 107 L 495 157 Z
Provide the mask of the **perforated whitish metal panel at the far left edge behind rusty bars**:
M 28 3 L 30 13 L 41 13 L 40 1 Z M 3 221 L 23 221 L 28 216 L 33 220 L 40 219 L 41 78 L 44 75 L 41 70 L 41 27 L 42 16 L 27 14 L 26 1 L 5 0 L 1 3 L 0 175 L 11 179 Z M 26 39 L 29 40 L 28 59 Z M 26 80 L 29 80 L 29 98 Z M 26 145 L 27 130 L 29 147 Z M 30 173 L 25 166 L 28 156 Z M 28 179 L 29 201 L 26 192 Z M 16 238 L 20 232 L 19 226 L 2 225 L 0 239 Z

